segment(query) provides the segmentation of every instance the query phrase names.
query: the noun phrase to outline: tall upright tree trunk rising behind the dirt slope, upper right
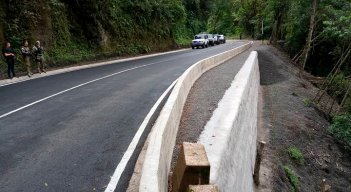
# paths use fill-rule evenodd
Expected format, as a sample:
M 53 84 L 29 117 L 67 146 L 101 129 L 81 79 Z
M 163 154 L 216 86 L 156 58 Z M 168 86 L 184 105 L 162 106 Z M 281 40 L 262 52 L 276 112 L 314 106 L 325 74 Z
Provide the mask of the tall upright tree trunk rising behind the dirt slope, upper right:
M 319 0 L 313 0 L 312 14 L 311 14 L 311 19 L 310 19 L 310 27 L 309 27 L 308 36 L 306 39 L 304 59 L 303 59 L 303 63 L 302 63 L 302 70 L 304 70 L 306 67 L 308 55 L 309 55 L 310 50 L 311 50 L 311 42 L 312 42 L 312 36 L 313 36 L 313 32 L 314 32 L 315 20 L 316 20 L 316 16 L 317 16 L 318 2 L 319 2 Z

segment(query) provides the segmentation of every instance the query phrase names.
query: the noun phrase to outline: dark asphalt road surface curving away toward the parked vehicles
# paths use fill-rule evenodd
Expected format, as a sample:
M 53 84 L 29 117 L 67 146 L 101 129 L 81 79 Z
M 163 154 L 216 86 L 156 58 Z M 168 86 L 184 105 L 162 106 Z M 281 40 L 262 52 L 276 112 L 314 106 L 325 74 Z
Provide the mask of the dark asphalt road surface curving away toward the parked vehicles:
M 0 116 L 65 91 L 0 118 L 0 191 L 104 191 L 144 117 L 167 87 L 195 62 L 242 44 L 0 87 Z M 115 191 L 126 189 L 148 131 Z

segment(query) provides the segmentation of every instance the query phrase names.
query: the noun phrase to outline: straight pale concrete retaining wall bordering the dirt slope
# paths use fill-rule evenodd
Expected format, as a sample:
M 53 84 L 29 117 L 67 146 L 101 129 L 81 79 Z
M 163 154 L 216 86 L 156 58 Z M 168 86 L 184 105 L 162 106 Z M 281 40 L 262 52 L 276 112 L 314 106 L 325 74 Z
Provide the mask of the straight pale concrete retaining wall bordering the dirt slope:
M 201 133 L 219 191 L 252 192 L 260 74 L 252 52 Z

